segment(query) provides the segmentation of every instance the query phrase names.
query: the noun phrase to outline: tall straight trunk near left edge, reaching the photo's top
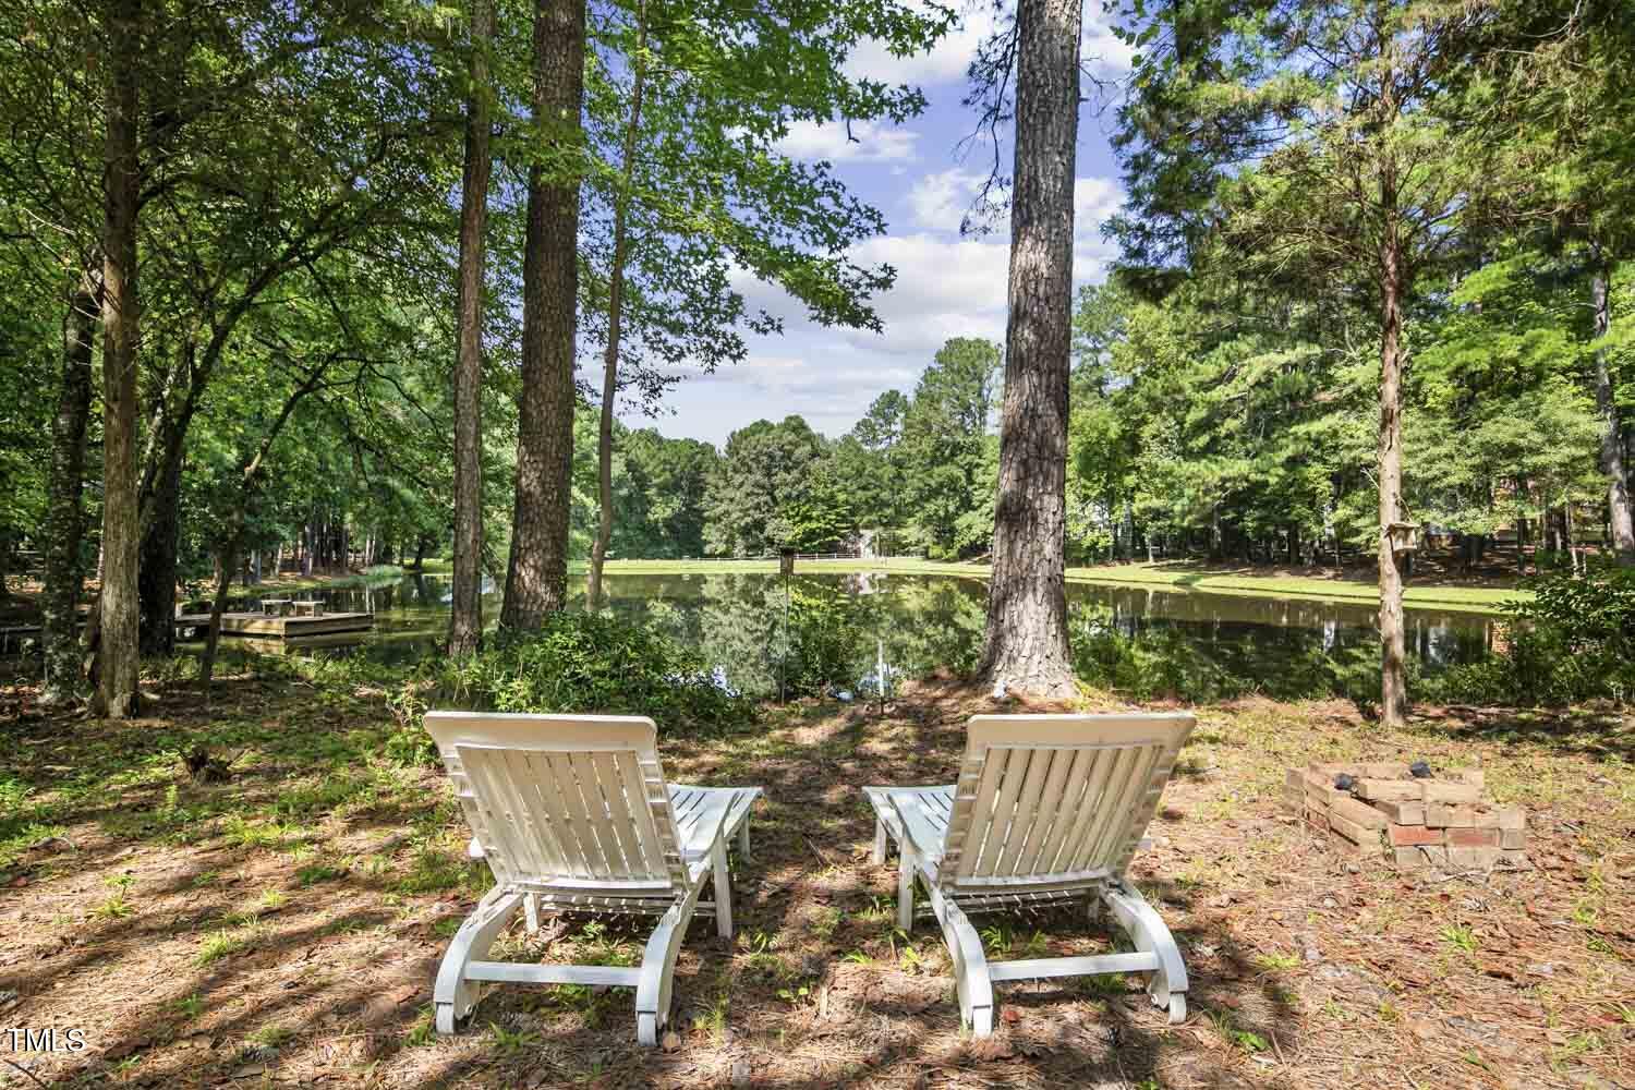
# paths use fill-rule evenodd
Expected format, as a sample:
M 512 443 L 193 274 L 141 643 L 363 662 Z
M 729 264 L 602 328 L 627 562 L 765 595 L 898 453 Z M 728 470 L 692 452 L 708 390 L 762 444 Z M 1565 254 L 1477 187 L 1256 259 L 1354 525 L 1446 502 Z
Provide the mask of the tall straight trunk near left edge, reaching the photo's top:
M 108 116 L 103 150 L 103 583 L 96 713 L 137 713 L 136 482 L 139 165 L 137 57 L 142 0 L 111 0 L 108 11 Z

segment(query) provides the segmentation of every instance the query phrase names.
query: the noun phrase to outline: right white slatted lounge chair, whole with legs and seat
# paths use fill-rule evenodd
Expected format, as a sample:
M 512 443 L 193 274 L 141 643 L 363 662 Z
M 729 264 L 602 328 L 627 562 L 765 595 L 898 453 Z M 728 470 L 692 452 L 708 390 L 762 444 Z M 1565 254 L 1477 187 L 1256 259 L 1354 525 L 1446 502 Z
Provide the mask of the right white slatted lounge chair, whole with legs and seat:
M 960 783 L 863 788 L 875 807 L 875 863 L 898 843 L 898 925 L 914 925 L 914 879 L 953 958 L 960 1015 L 994 1026 L 996 981 L 1146 974 L 1153 1003 L 1187 1016 L 1187 967 L 1176 940 L 1125 881 L 1130 856 L 1192 732 L 1187 714 L 976 716 Z M 1105 905 L 1135 953 L 989 963 L 968 912 L 1089 900 Z

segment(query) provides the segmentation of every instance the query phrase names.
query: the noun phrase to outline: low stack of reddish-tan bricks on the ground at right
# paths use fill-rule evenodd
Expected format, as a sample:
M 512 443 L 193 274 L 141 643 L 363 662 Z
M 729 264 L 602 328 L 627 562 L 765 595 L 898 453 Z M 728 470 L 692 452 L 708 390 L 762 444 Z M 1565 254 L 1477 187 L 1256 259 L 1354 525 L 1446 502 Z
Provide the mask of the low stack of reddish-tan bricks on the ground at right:
M 1349 776 L 1349 789 L 1336 788 Z M 1481 770 L 1414 778 L 1408 765 L 1290 768 L 1283 804 L 1349 855 L 1401 868 L 1527 868 L 1527 815 L 1483 797 Z

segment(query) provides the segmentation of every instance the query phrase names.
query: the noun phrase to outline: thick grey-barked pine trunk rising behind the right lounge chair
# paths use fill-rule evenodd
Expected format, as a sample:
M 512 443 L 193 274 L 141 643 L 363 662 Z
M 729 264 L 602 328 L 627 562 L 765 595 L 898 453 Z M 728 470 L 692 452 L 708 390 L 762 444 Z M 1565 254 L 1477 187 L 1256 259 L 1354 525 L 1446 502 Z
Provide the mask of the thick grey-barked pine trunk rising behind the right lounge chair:
M 1019 0 L 1010 317 L 984 683 L 1071 696 L 1066 596 L 1068 348 L 1079 0 Z

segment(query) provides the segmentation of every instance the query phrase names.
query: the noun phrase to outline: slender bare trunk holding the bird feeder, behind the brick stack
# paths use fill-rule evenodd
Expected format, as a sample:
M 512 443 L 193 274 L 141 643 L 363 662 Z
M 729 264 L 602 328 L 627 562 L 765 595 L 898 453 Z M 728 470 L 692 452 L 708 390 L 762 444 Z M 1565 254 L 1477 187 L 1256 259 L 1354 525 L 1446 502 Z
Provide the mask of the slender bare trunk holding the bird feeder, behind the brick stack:
M 1380 245 L 1380 716 L 1386 726 L 1408 719 L 1403 572 L 1388 533 L 1403 510 L 1401 271 L 1401 245 L 1391 224 Z

